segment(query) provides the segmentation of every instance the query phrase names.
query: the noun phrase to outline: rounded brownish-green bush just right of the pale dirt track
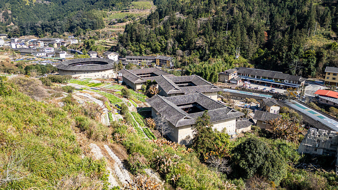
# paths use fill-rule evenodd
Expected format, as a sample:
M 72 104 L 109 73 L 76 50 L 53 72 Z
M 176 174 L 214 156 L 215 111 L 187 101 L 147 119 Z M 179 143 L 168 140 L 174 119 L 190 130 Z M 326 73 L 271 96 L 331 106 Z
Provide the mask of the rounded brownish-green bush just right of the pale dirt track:
M 134 175 L 145 173 L 144 169 L 147 168 L 147 159 L 139 153 L 132 153 L 128 156 L 128 168 Z

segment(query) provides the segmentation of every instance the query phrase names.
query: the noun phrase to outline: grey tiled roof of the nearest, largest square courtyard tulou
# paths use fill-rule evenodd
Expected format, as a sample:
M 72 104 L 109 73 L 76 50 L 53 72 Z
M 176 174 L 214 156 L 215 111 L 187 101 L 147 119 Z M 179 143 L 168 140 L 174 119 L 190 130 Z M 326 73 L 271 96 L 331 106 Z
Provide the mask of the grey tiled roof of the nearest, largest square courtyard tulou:
M 210 121 L 213 123 L 244 115 L 242 112 L 226 107 L 201 93 L 174 97 L 162 97 L 156 94 L 146 101 L 175 127 L 196 124 L 196 118 L 203 114 L 203 111 L 188 114 L 177 106 L 182 104 L 198 103 L 203 106 L 208 110 Z

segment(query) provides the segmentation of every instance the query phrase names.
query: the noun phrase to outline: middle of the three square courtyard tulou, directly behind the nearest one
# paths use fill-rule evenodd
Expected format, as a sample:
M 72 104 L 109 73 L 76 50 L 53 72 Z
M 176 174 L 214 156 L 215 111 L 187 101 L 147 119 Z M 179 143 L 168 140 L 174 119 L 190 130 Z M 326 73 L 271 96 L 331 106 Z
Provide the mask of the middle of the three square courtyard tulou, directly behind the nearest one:
M 191 76 L 165 76 L 154 77 L 158 84 L 159 95 L 170 97 L 200 92 L 213 100 L 217 100 L 217 92 L 223 89 L 211 84 L 197 75 Z

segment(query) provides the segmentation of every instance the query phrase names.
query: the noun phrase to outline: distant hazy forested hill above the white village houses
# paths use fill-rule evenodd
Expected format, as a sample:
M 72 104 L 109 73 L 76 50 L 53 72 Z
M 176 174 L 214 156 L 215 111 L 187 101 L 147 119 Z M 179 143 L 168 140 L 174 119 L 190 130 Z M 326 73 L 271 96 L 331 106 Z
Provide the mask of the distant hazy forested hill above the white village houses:
M 38 35 L 46 32 L 62 34 L 104 27 L 104 11 L 120 10 L 131 0 L 2 0 L 0 1 L 0 26 L 10 36 Z

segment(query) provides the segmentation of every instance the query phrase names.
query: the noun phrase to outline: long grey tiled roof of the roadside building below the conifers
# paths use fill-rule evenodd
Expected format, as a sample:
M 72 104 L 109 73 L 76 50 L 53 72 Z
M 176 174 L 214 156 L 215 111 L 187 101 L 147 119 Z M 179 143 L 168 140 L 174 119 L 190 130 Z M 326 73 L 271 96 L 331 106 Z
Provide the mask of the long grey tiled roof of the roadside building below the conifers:
M 301 76 L 289 75 L 289 74 L 277 72 L 277 71 L 252 69 L 252 68 L 246 68 L 246 67 L 239 67 L 238 73 L 257 75 L 257 76 L 269 77 L 269 78 L 274 78 L 274 79 L 286 79 L 286 80 L 299 81 L 299 82 L 303 82 L 306 80 L 306 78 L 302 78 Z

